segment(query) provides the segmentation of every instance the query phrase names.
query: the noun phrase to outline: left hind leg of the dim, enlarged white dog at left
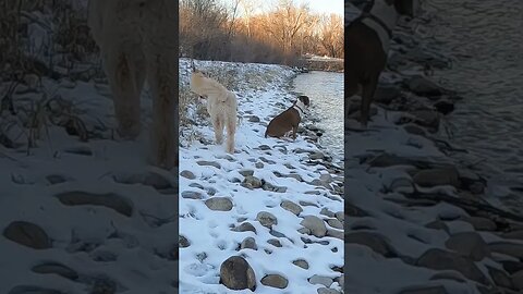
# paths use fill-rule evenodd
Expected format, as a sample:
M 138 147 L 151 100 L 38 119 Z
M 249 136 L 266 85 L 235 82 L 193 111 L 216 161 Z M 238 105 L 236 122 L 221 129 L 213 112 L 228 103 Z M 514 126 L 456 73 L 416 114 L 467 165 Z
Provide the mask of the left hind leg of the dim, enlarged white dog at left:
M 141 110 L 136 73 L 141 70 L 123 45 L 107 46 L 104 68 L 114 101 L 118 133 L 122 138 L 133 139 L 139 134 Z M 141 88 L 141 87 L 139 87 Z

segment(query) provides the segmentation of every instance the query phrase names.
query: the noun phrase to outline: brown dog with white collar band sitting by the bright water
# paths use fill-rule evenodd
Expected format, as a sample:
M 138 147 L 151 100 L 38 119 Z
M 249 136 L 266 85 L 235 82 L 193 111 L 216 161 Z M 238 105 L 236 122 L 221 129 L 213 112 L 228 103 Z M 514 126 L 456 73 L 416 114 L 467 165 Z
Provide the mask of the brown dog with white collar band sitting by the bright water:
M 309 99 L 307 96 L 300 96 L 288 110 L 276 115 L 267 125 L 265 137 L 287 137 L 292 133 L 292 138 L 296 139 L 297 125 L 302 121 L 302 117 L 308 109 Z

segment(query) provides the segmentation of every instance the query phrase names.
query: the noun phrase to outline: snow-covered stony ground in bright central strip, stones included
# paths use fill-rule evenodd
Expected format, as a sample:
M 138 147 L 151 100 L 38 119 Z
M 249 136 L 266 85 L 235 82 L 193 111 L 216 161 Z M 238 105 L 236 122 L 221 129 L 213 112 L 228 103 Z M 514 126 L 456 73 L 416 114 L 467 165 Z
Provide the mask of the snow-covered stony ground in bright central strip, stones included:
M 264 137 L 269 120 L 295 99 L 288 89 L 295 73 L 206 61 L 196 68 L 236 94 L 240 125 L 235 154 L 228 155 L 198 102 L 188 103 L 180 147 L 180 293 L 231 293 L 224 284 L 242 283 L 255 293 L 343 292 L 341 169 L 303 134 L 295 142 Z M 180 60 L 182 97 L 192 97 L 188 74 L 188 60 Z M 222 264 L 233 256 L 254 277 L 228 278 Z

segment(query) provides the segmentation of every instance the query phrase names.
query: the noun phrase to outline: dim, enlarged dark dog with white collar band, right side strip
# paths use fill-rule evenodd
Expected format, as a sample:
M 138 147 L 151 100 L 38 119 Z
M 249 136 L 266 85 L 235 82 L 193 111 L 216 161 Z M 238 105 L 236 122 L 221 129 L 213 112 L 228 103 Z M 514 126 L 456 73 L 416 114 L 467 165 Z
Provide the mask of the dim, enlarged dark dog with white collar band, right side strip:
M 370 102 L 385 70 L 392 29 L 400 15 L 414 16 L 418 0 L 374 0 L 345 27 L 345 118 L 349 98 L 361 94 L 361 123 L 368 122 Z

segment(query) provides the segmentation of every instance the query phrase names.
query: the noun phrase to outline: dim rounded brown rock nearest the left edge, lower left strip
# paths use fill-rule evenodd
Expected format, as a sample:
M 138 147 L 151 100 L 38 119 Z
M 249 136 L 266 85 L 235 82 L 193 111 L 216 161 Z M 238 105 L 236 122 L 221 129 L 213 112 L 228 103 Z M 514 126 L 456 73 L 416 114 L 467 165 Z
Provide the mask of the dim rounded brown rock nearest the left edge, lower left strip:
M 39 225 L 27 221 L 13 221 L 4 230 L 3 236 L 14 243 L 33 249 L 51 248 L 51 240 Z

